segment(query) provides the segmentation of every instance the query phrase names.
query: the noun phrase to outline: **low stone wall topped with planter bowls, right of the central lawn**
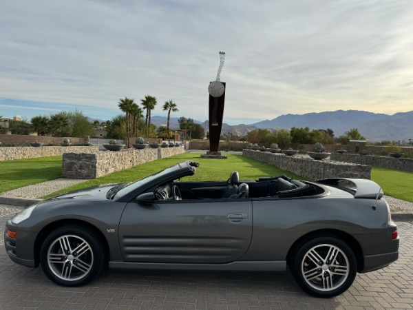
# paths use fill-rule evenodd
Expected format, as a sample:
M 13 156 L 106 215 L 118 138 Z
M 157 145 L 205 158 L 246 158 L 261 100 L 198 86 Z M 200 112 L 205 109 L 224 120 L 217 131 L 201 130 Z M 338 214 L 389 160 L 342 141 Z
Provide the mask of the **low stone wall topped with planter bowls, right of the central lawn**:
M 311 180 L 322 178 L 368 178 L 371 166 L 339 161 L 315 161 L 308 155 L 286 156 L 281 153 L 269 153 L 243 149 L 242 155 L 275 165 L 280 169 L 294 172 Z

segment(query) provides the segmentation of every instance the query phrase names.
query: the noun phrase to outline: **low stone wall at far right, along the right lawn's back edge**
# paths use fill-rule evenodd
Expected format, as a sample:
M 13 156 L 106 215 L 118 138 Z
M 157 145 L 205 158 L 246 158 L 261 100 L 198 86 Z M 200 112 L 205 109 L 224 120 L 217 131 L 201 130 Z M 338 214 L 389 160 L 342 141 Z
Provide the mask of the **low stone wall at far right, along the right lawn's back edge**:
M 371 165 L 413 172 L 413 158 L 332 153 L 330 159 L 333 161 L 345 161 L 347 163 L 357 163 L 361 165 Z

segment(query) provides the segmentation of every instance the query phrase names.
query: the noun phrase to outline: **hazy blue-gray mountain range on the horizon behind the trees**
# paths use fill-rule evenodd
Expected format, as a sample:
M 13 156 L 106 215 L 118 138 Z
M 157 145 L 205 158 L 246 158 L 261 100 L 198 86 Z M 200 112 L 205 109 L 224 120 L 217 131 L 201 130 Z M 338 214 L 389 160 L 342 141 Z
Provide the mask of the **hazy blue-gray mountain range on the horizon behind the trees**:
M 225 113 L 224 113 L 225 118 Z M 209 130 L 208 121 L 203 123 L 194 120 Z M 151 123 L 156 126 L 166 125 L 166 116 L 152 116 Z M 171 117 L 169 127 L 179 128 L 178 118 Z M 356 110 L 337 110 L 332 112 L 286 114 L 271 120 L 260 121 L 253 124 L 228 125 L 222 124 L 222 134 L 231 132 L 245 136 L 257 128 L 268 129 L 275 132 L 281 128 L 309 127 L 310 130 L 327 129 L 334 131 L 335 136 L 341 136 L 352 128 L 357 128 L 368 141 L 408 141 L 413 139 L 413 111 L 399 112 L 393 115 L 372 113 Z

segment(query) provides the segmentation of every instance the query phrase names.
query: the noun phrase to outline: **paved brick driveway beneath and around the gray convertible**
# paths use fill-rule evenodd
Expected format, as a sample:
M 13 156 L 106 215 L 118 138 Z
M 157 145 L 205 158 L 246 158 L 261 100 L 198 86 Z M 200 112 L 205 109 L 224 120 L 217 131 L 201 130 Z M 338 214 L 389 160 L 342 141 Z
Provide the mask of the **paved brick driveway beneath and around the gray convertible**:
M 1 237 L 0 309 L 413 309 L 413 223 L 397 224 L 399 260 L 327 300 L 303 293 L 290 273 L 107 271 L 85 287 L 59 287 L 11 262 Z

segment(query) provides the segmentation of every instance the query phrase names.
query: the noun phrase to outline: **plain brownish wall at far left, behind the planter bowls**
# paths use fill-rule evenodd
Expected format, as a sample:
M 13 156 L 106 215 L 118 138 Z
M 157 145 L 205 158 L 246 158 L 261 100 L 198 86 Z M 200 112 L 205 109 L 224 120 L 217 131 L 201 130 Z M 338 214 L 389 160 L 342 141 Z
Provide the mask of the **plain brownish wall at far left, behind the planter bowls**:
M 14 144 L 14 145 L 28 145 L 29 143 L 41 142 L 44 145 L 60 145 L 63 142 L 63 139 L 66 137 L 56 137 L 56 136 L 30 136 L 23 134 L 0 134 L 0 142 L 5 144 Z M 86 138 L 72 138 L 70 143 L 72 144 L 83 144 L 85 143 Z

